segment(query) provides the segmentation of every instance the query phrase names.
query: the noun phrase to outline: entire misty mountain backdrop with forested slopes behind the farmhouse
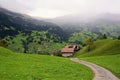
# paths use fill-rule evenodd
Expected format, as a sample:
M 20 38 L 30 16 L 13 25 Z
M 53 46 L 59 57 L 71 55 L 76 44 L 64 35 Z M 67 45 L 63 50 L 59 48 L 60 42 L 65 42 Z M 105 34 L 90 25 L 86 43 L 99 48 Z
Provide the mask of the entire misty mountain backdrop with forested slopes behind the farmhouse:
M 113 14 L 85 19 L 68 16 L 42 21 L 0 8 L 0 42 L 15 52 L 59 54 L 67 44 L 85 46 L 85 41 L 90 37 L 93 41 L 104 36 L 118 39 L 119 22 L 119 15 Z

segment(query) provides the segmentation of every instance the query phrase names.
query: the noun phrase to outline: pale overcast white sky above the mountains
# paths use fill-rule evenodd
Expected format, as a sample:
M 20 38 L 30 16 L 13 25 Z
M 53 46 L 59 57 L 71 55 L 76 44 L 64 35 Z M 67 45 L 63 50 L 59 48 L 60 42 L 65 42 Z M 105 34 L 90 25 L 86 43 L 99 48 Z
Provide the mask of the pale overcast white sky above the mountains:
M 34 17 L 120 13 L 120 0 L 0 0 L 0 6 Z

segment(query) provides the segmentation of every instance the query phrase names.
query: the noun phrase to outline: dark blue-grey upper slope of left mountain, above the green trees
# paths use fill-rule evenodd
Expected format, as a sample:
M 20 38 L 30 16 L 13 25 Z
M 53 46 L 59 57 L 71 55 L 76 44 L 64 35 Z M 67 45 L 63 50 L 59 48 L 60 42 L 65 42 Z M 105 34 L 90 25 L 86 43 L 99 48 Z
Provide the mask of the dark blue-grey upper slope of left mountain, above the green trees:
M 0 8 L 0 37 L 15 36 L 19 32 L 29 34 L 31 31 L 48 31 L 57 34 L 61 40 L 65 39 L 65 32 L 57 25 L 30 16 L 11 12 Z

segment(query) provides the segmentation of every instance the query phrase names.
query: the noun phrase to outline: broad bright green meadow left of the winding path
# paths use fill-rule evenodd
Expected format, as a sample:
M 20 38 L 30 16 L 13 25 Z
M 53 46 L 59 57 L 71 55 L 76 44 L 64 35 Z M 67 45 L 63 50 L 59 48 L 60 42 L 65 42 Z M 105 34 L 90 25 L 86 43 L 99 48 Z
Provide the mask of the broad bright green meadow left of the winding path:
M 92 80 L 92 71 L 67 58 L 13 53 L 0 47 L 0 80 Z

